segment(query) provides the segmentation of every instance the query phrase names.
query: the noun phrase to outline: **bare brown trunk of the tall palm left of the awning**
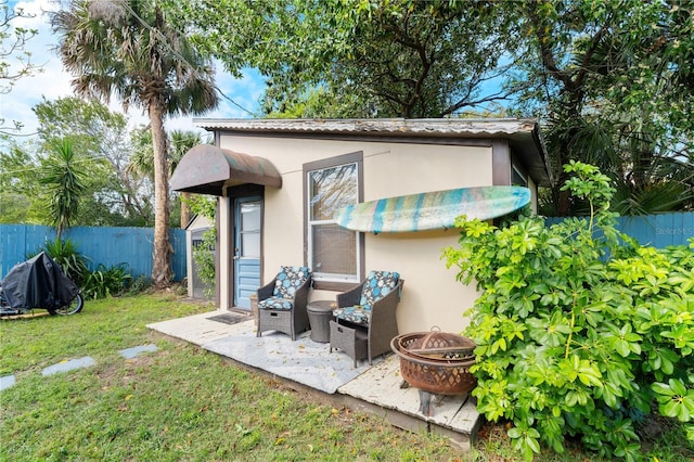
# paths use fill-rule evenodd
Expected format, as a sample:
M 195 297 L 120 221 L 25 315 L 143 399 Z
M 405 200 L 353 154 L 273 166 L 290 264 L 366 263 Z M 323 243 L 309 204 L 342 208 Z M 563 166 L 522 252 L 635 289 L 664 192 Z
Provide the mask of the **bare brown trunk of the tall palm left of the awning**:
M 154 146 L 154 255 L 152 283 L 157 288 L 171 284 L 171 245 L 169 243 L 169 178 L 166 162 L 164 108 L 158 100 L 150 104 L 150 124 Z

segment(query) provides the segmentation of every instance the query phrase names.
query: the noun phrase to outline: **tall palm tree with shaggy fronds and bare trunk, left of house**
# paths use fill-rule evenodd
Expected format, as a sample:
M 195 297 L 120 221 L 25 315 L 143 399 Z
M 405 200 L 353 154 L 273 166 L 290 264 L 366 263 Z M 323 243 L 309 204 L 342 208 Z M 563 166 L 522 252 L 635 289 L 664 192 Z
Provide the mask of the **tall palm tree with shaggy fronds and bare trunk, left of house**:
M 70 0 L 51 14 L 63 66 L 80 95 L 108 102 L 117 95 L 127 111 L 144 108 L 154 149 L 154 255 L 157 287 L 171 282 L 169 195 L 164 119 L 171 114 L 202 114 L 218 97 L 209 61 L 181 30 L 167 24 L 156 0 Z

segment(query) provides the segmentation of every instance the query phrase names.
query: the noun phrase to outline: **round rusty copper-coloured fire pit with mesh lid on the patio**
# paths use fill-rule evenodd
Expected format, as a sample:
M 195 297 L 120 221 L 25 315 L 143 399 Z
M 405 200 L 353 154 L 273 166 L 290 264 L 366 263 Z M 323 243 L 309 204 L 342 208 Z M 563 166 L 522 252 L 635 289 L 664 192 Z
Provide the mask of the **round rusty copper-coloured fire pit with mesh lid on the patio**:
M 390 342 L 400 357 L 402 378 L 420 389 L 420 410 L 429 416 L 430 394 L 461 395 L 477 384 L 470 373 L 475 347 L 467 337 L 438 331 L 402 334 Z

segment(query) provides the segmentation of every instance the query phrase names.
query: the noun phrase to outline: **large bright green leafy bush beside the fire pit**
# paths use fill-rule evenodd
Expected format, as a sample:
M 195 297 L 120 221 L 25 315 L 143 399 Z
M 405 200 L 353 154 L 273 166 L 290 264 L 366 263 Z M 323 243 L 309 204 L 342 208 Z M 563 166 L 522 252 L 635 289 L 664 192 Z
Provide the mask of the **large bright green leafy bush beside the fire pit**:
M 465 331 L 478 345 L 477 408 L 512 422 L 526 460 L 541 444 L 563 452 L 569 436 L 638 460 L 637 425 L 653 409 L 694 440 L 694 241 L 639 245 L 615 229 L 608 178 L 580 163 L 565 170 L 587 219 L 497 228 L 463 217 L 460 245 L 445 249 L 458 279 L 481 291 Z

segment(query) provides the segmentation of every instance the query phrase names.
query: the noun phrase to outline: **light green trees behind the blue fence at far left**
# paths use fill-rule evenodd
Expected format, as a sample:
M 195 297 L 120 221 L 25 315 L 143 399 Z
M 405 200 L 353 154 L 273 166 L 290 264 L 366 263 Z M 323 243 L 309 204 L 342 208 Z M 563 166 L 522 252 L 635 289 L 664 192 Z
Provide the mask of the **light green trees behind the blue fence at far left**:
M 54 145 L 68 140 L 74 164 L 89 174 L 81 179 L 85 190 L 73 224 L 152 226 L 152 181 L 127 169 L 141 128 L 130 131 L 123 114 L 97 100 L 43 100 L 33 111 L 39 121 L 37 138 L 2 140 L 2 222 L 51 223 L 42 204 L 52 197 L 38 180 Z M 151 157 L 152 143 L 147 146 Z

